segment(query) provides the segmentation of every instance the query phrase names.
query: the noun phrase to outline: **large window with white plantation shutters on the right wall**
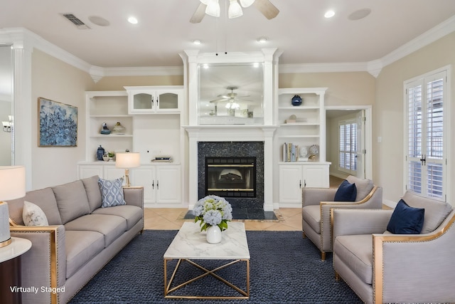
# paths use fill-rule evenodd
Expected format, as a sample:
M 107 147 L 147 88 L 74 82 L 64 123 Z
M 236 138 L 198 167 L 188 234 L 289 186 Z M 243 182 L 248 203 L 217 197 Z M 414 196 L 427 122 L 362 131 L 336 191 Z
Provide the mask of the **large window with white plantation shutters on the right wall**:
M 405 83 L 406 189 L 441 201 L 446 200 L 446 83 L 445 70 Z

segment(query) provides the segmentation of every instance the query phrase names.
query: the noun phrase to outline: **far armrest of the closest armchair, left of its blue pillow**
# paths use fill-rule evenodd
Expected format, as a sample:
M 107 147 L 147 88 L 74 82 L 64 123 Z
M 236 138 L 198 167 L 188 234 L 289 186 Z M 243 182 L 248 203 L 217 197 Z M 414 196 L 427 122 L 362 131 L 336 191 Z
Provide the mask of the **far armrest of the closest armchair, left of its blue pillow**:
M 332 209 L 333 239 L 342 235 L 382 234 L 393 210 Z

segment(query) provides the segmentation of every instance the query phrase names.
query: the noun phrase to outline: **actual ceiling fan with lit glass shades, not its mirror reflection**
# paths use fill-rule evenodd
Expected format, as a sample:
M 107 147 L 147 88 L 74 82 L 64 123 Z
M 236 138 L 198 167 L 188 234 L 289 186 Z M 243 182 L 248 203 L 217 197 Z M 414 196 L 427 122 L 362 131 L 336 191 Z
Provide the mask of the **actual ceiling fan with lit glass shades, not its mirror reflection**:
M 200 0 L 200 4 L 196 9 L 195 13 L 190 19 L 191 23 L 199 23 L 204 18 L 205 14 L 210 16 L 219 17 L 220 16 L 220 4 L 219 0 Z M 275 18 L 279 10 L 276 6 L 272 4 L 269 0 L 229 0 L 229 11 L 228 16 L 230 19 L 242 16 L 242 6 L 248 7 L 250 5 L 255 6 L 255 8 L 262 13 L 267 19 Z

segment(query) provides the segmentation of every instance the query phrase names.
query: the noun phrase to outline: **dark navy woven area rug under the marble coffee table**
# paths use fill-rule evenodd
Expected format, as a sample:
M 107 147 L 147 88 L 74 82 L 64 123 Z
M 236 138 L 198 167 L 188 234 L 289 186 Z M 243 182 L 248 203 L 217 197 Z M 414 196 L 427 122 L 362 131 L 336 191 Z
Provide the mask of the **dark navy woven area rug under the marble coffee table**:
M 309 239 L 302 239 L 301 231 L 247 231 L 251 258 L 249 299 L 166 299 L 163 255 L 176 234 L 177 231 L 172 230 L 144 231 L 92 278 L 70 303 L 362 303 L 346 283 L 335 281 L 331 254 L 325 262 L 321 261 L 321 253 Z M 210 269 L 219 263 L 203 262 Z M 173 267 L 169 266 L 168 276 L 172 270 Z M 201 273 L 183 263 L 176 277 L 184 280 Z M 217 273 L 240 288 L 245 285 L 245 263 L 237 263 Z M 240 295 L 212 276 L 191 283 L 178 293 Z M 176 291 L 174 295 L 178 293 Z

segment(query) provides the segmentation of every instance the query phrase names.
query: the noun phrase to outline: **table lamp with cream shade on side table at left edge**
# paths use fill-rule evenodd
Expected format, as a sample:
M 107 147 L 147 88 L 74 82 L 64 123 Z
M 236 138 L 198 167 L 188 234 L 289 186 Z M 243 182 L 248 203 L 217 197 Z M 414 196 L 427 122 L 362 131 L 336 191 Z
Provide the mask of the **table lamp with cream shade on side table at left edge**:
M 26 169 L 23 166 L 0 166 L 0 247 L 11 243 L 9 211 L 6 201 L 26 195 Z

